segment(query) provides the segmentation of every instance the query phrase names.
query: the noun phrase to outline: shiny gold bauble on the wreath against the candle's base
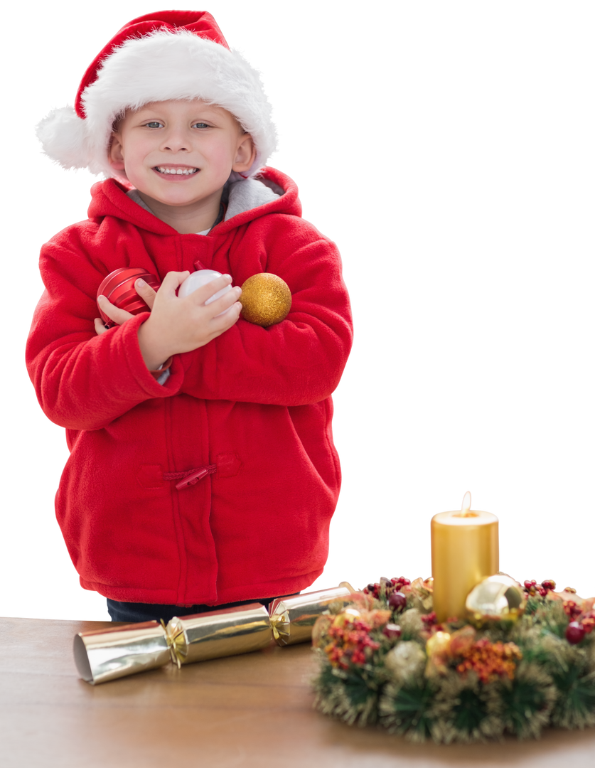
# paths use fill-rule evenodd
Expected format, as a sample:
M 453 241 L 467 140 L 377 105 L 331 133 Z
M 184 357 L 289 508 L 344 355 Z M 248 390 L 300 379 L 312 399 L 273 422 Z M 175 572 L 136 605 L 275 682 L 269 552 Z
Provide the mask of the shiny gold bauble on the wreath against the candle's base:
M 509 576 L 489 576 L 467 595 L 465 607 L 470 621 L 478 627 L 490 621 L 516 621 L 524 613 L 523 590 Z

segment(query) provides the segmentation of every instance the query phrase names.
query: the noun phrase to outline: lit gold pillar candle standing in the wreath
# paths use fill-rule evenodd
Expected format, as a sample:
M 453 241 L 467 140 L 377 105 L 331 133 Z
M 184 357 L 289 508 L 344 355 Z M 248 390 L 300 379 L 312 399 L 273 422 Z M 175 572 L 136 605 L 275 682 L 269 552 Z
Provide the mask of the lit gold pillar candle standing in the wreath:
M 468 489 L 458 509 L 431 515 L 428 535 L 436 620 L 463 619 L 469 592 L 501 571 L 501 520 L 490 509 L 474 508 Z

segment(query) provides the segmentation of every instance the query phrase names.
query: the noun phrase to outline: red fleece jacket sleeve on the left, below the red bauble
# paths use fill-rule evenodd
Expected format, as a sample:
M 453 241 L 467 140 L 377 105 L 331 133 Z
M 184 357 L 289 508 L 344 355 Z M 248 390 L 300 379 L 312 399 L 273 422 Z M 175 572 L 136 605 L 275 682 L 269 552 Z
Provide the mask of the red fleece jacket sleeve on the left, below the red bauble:
M 177 393 L 179 363 L 161 386 L 138 346 L 142 313 L 97 335 L 98 286 L 111 270 L 57 233 L 38 254 L 41 292 L 25 339 L 25 371 L 45 418 L 62 429 L 103 429 L 134 406 Z

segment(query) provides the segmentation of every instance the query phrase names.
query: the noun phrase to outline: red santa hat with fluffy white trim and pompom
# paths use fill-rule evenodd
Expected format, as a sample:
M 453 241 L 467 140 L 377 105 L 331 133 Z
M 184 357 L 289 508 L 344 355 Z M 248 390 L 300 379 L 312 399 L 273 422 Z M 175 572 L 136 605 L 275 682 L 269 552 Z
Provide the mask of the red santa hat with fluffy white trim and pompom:
M 243 48 L 228 43 L 210 11 L 144 13 L 117 28 L 89 61 L 74 106 L 50 104 L 33 136 L 41 157 L 64 173 L 117 178 L 107 160 L 116 118 L 151 101 L 200 98 L 229 111 L 250 133 L 256 160 L 241 177 L 253 176 L 273 162 L 283 135 L 264 74 Z

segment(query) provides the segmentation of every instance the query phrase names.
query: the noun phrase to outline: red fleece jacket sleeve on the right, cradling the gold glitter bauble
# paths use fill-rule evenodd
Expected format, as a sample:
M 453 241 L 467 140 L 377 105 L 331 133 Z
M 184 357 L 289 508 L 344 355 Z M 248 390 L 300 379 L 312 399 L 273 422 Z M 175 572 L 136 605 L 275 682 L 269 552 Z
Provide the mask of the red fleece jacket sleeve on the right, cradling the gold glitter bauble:
M 283 278 L 291 290 L 289 315 L 268 328 L 240 316 L 217 339 L 181 356 L 183 392 L 302 406 L 339 388 L 355 338 L 351 296 L 337 243 L 312 223 L 304 225 L 278 217 L 258 240 L 266 253 L 262 271 Z

